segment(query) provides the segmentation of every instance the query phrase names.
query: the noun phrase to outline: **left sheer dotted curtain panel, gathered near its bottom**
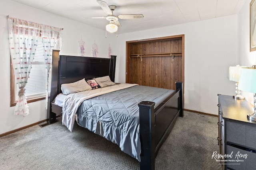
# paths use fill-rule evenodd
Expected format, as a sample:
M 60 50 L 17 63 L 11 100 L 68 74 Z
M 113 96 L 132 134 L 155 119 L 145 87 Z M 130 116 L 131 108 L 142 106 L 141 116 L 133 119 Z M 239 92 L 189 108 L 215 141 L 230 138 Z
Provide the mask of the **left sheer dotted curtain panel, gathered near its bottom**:
M 25 86 L 34 60 L 38 37 L 40 37 L 40 25 L 30 21 L 8 18 L 8 29 L 12 66 L 19 87 L 14 114 L 26 116 L 29 114 L 29 110 Z

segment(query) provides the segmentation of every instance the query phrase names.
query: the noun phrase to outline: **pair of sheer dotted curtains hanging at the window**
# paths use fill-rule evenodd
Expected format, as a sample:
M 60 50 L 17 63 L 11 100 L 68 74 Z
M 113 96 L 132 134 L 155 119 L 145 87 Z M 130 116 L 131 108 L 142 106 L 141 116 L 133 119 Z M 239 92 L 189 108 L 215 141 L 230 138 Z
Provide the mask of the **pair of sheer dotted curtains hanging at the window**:
M 19 87 L 14 115 L 28 115 L 25 86 L 32 68 L 37 42 L 40 36 L 44 44 L 46 63 L 46 108 L 48 102 L 49 73 L 52 64 L 52 49 L 61 49 L 62 29 L 8 17 L 10 54 Z

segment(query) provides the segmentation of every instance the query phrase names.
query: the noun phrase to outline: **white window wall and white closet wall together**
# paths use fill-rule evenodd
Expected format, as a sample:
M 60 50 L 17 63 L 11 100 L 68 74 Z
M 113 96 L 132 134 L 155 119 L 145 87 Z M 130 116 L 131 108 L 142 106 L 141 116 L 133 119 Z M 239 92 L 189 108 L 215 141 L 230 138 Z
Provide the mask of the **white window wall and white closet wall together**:
M 29 103 L 30 115 L 13 115 L 10 107 L 10 52 L 6 16 L 64 28 L 62 55 L 79 55 L 81 36 L 85 41 L 85 56 L 92 56 L 91 47 L 98 45 L 98 56 L 106 57 L 109 43 L 112 55 L 117 55 L 116 82 L 125 82 L 126 41 L 185 35 L 185 109 L 218 113 L 217 94 L 234 94 L 234 82 L 227 80 L 228 67 L 238 63 L 237 15 L 196 21 L 180 25 L 132 33 L 108 35 L 105 31 L 76 21 L 55 16 L 10 0 L 0 1 L 0 134 L 46 119 L 45 100 Z M 241 14 L 242 16 L 242 14 Z M 249 34 L 248 34 L 249 35 Z M 241 63 L 243 64 L 243 63 Z

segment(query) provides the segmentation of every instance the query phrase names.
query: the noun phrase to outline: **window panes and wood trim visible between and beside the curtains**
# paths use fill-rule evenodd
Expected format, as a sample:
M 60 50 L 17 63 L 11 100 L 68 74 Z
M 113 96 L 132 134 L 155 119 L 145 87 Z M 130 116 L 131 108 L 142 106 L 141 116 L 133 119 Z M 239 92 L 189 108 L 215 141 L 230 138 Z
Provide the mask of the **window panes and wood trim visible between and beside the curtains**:
M 35 102 L 38 100 L 45 99 L 46 97 L 46 66 L 44 62 L 44 47 L 42 43 L 42 37 L 38 39 L 38 44 L 36 47 L 36 53 L 34 56 L 33 65 L 30 71 L 30 76 L 28 78 L 28 83 L 26 84 L 26 97 L 27 102 Z M 51 74 L 50 74 L 51 75 Z M 49 82 L 50 83 L 50 82 Z M 16 100 L 18 98 L 17 92 L 19 90 L 16 86 L 16 78 L 11 66 L 11 106 L 16 105 Z M 49 84 L 50 87 L 50 84 Z M 48 89 L 50 92 L 50 88 Z

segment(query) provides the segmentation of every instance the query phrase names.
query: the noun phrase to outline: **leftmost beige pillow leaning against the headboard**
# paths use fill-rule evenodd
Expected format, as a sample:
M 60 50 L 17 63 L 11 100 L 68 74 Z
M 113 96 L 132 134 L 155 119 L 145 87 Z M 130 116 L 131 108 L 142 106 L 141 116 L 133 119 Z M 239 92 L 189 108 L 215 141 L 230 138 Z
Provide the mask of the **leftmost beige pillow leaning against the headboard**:
M 77 82 L 62 84 L 60 89 L 65 95 L 76 92 L 83 92 L 86 90 L 92 90 L 91 86 L 87 84 L 84 78 Z

